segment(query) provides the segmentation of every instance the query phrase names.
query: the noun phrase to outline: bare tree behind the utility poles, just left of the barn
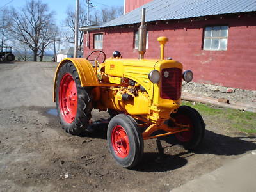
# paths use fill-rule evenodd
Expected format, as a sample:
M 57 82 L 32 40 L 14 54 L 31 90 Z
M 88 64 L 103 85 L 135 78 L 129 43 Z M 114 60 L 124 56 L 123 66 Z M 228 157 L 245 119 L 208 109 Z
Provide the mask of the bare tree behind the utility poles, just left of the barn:
M 66 34 L 66 38 L 69 43 L 74 43 L 74 33 L 75 33 L 75 11 L 74 9 L 67 8 L 67 17 L 65 19 L 65 25 L 68 26 L 68 33 Z M 86 26 L 87 23 L 87 12 L 83 8 L 83 6 L 80 6 L 79 8 L 79 26 Z M 78 35 L 79 40 L 79 51 L 83 49 L 83 31 L 79 31 Z

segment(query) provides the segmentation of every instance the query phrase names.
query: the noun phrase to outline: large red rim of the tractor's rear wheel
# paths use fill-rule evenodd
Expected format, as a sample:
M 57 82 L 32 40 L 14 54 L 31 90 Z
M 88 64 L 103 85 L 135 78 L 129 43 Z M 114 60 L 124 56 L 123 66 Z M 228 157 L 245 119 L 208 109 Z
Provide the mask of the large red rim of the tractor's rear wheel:
M 65 74 L 60 83 L 60 112 L 63 119 L 71 124 L 77 112 L 77 89 L 76 82 L 71 74 Z

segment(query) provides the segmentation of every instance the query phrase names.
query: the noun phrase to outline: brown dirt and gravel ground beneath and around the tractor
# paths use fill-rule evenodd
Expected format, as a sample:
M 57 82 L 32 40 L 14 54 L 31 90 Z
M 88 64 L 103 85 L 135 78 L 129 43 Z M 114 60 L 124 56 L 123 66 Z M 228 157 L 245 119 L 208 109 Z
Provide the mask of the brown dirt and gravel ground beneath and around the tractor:
M 0 191 L 170 191 L 256 149 L 255 136 L 225 132 L 203 116 L 202 148 L 187 152 L 162 138 L 145 141 L 142 163 L 128 170 L 108 151 L 106 125 L 72 136 L 61 129 L 52 81 L 56 63 L 0 63 Z M 93 119 L 108 113 L 93 111 Z M 67 178 L 65 178 L 67 177 Z

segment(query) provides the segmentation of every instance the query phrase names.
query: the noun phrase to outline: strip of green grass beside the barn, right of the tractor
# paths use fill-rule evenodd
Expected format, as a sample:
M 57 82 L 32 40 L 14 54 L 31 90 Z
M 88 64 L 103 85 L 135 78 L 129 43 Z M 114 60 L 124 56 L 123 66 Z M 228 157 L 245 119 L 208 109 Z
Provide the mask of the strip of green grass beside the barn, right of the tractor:
M 216 124 L 220 122 L 221 125 L 229 127 L 229 129 L 233 129 L 234 131 L 248 134 L 256 133 L 256 113 L 229 108 L 217 108 L 201 103 L 194 105 L 192 102 L 186 101 L 183 101 L 182 105 L 195 108 L 207 120 L 212 121 L 212 123 L 214 121 L 216 121 Z

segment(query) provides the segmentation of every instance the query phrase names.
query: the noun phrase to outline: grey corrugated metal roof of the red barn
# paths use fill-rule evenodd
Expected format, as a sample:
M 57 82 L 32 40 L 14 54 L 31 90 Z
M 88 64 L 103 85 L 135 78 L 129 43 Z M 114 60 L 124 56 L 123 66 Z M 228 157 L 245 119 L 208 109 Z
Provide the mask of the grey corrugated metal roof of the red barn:
M 256 0 L 154 0 L 100 27 L 139 23 L 142 7 L 146 8 L 146 22 L 150 22 L 253 12 L 256 11 Z

